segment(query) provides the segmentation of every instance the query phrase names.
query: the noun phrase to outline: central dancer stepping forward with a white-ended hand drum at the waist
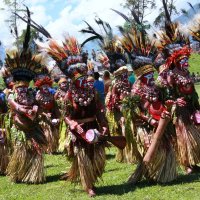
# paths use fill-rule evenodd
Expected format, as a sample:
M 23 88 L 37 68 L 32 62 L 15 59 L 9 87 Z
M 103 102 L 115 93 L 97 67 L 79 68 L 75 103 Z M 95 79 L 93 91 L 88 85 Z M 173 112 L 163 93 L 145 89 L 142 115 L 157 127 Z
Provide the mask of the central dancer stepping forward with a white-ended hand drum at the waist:
M 50 48 L 52 46 L 53 49 Z M 67 180 L 80 181 L 89 196 L 94 196 L 94 184 L 102 176 L 106 157 L 105 143 L 92 142 L 97 140 L 99 134 L 109 134 L 103 107 L 94 88 L 88 86 L 87 66 L 82 61 L 81 50 L 75 38 L 66 38 L 63 47 L 50 40 L 49 47 L 43 50 L 52 56 L 61 70 L 72 79 L 72 85 L 65 97 L 65 122 L 69 126 L 70 136 L 67 144 L 70 149 L 68 156 L 73 158 L 66 175 Z M 85 136 L 85 132 L 94 137 L 87 137 L 87 134 Z

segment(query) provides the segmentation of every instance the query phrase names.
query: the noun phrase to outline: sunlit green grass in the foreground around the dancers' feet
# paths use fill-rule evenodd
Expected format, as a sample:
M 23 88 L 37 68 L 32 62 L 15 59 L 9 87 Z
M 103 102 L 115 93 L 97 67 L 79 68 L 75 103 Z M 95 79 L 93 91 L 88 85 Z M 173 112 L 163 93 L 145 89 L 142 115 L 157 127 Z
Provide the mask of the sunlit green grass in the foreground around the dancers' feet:
M 200 197 L 200 174 L 180 175 L 169 185 L 157 185 L 142 181 L 137 186 L 127 185 L 126 180 L 135 166 L 117 163 L 115 149 L 107 150 L 107 165 L 103 181 L 97 184 L 98 196 L 95 199 L 134 199 L 134 200 L 197 200 Z M 69 163 L 62 155 L 46 155 L 45 168 L 47 183 L 41 185 L 14 184 L 8 177 L 0 177 L 1 200 L 54 200 L 54 199 L 89 199 L 80 186 L 60 181 L 62 171 Z

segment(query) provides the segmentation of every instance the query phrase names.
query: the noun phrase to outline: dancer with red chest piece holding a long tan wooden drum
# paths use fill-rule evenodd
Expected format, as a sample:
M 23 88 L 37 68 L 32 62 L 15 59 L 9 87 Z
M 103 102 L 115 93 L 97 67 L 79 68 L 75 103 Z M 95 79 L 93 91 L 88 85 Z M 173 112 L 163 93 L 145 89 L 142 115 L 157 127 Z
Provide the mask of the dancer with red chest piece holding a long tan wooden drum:
M 157 49 L 144 32 L 134 28 L 124 36 L 122 45 L 129 53 L 137 78 L 133 84 L 132 98 L 123 102 L 123 107 L 129 106 L 131 109 L 137 130 L 136 157 L 139 165 L 129 182 L 135 183 L 142 176 L 160 183 L 173 181 L 177 176 L 177 162 L 168 104 L 174 102 L 165 102 L 154 83 L 153 60 Z

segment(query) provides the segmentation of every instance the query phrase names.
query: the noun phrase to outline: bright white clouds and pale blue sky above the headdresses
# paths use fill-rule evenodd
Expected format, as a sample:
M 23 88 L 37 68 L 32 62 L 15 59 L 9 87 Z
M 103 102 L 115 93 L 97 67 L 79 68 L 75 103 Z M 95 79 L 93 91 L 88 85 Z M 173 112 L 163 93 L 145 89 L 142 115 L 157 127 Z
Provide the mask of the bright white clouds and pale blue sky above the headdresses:
M 192 4 L 199 2 L 199 0 L 192 0 Z M 114 28 L 117 25 L 124 23 L 122 17 L 110 8 L 122 11 L 127 14 L 127 11 L 121 6 L 124 0 L 26 0 L 25 3 L 30 7 L 33 12 L 32 19 L 38 24 L 46 27 L 56 39 L 63 38 L 64 33 L 70 33 L 70 35 L 76 36 L 79 41 L 83 41 L 86 37 L 79 31 L 86 27 L 83 20 L 89 22 L 92 26 L 98 28 L 94 22 L 95 16 L 99 16 L 102 20 L 107 21 Z M 161 1 L 156 0 L 158 8 L 161 7 Z M 62 9 L 60 8 L 62 4 Z M 59 5 L 59 6 L 58 6 Z M 189 8 L 186 0 L 177 0 L 177 8 Z M 0 1 L 0 8 L 4 7 L 2 1 Z M 54 8 L 52 12 L 52 8 Z M 60 8 L 61 10 L 57 10 Z M 50 12 L 51 10 L 51 12 Z M 146 19 L 150 22 L 153 21 L 157 15 L 157 10 L 154 10 Z M 53 16 L 56 16 L 54 18 Z M 9 33 L 9 28 L 5 23 L 5 19 L 8 19 L 9 14 L 5 11 L 0 11 L 0 40 L 4 45 L 11 45 L 13 42 L 12 36 Z M 25 23 L 20 22 L 19 31 L 25 28 Z

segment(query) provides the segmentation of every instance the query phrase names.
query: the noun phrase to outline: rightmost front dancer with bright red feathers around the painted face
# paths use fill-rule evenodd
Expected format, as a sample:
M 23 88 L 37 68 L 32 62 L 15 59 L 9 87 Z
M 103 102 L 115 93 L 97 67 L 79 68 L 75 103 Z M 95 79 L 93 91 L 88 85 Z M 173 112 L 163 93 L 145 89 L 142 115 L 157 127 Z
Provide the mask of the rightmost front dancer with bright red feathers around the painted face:
M 177 135 L 178 158 L 187 173 L 199 170 L 200 131 L 199 102 L 193 79 L 188 71 L 191 53 L 189 40 L 179 30 L 177 24 L 168 24 L 166 32 L 160 35 L 159 48 L 165 64 L 160 67 L 159 81 L 165 83 L 165 91 L 176 101 L 182 98 L 186 105 L 174 107 L 174 124 Z M 164 84 L 162 84 L 164 85 Z

